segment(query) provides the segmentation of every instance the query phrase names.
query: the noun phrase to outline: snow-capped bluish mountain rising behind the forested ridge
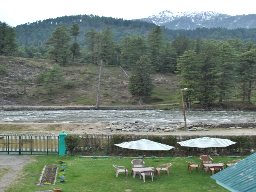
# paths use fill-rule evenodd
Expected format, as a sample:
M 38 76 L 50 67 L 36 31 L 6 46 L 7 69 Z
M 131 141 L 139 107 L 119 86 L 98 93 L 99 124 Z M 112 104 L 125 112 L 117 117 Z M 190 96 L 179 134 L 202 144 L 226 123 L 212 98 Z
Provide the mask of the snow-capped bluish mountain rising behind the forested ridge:
M 230 16 L 218 12 L 172 12 L 162 11 L 147 18 L 137 19 L 151 22 L 168 29 L 196 29 L 202 28 L 255 28 L 256 14 Z

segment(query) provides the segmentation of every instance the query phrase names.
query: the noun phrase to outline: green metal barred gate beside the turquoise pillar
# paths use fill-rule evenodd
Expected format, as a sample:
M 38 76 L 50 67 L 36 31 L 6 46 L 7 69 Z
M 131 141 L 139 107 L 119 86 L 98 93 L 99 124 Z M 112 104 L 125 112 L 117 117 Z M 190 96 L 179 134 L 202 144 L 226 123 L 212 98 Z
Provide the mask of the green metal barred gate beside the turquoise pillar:
M 4 135 L 0 136 L 0 154 L 58 155 L 59 136 Z

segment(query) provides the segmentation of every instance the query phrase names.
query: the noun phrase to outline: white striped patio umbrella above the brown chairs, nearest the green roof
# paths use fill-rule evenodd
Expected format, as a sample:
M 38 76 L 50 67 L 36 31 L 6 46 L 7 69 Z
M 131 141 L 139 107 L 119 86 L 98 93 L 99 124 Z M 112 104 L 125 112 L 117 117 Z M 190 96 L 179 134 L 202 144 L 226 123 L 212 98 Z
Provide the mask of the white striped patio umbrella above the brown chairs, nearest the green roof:
M 184 147 L 211 148 L 211 147 L 227 147 L 227 146 L 236 144 L 236 142 L 233 142 L 229 139 L 202 137 L 202 138 L 190 139 L 186 141 L 180 141 L 178 142 L 178 144 Z M 208 162 L 209 162 L 209 159 L 208 159 Z

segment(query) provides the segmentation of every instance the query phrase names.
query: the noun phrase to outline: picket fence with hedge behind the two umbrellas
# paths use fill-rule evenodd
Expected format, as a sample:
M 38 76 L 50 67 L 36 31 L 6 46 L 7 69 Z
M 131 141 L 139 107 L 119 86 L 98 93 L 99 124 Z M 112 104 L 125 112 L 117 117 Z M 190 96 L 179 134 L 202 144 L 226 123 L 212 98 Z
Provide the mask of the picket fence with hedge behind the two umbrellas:
M 162 151 L 162 152 L 153 152 L 149 151 L 148 154 L 171 154 L 174 156 L 182 155 L 200 155 L 200 154 L 216 154 L 216 155 L 245 155 L 252 154 L 256 152 L 256 136 L 209 136 L 212 138 L 223 138 L 230 139 L 237 144 L 228 146 L 228 147 L 219 147 L 219 148 L 192 148 L 192 147 L 182 147 L 177 142 L 201 138 L 203 136 L 138 136 L 138 135 L 75 135 L 79 137 L 78 145 L 75 148 L 76 152 L 95 152 L 102 151 L 107 153 L 116 153 L 116 154 L 138 154 L 137 150 L 129 150 L 114 146 L 114 144 L 140 140 L 140 139 L 149 139 L 155 142 L 167 144 L 174 146 L 175 148 Z

